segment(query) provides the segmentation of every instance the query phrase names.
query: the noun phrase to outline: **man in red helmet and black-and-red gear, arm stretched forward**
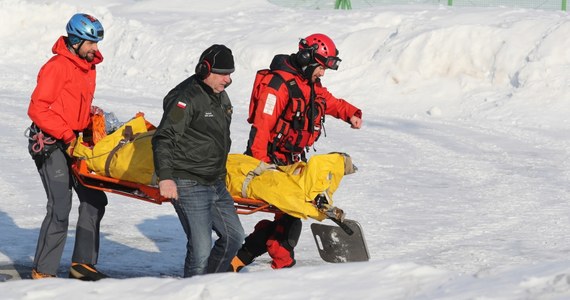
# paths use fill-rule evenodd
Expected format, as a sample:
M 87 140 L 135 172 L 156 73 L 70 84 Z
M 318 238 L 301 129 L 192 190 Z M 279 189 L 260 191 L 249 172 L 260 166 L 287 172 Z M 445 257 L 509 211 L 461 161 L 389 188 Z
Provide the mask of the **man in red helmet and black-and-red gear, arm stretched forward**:
M 276 55 L 269 70 L 258 72 L 251 95 L 252 124 L 245 154 L 277 165 L 305 161 L 305 152 L 324 131 L 325 115 L 362 126 L 362 112 L 322 86 L 327 69 L 337 70 L 340 58 L 326 35 L 311 34 L 299 42 L 299 51 Z M 234 271 L 268 252 L 274 269 L 295 264 L 294 247 L 301 220 L 287 214 L 260 221 L 232 261 Z

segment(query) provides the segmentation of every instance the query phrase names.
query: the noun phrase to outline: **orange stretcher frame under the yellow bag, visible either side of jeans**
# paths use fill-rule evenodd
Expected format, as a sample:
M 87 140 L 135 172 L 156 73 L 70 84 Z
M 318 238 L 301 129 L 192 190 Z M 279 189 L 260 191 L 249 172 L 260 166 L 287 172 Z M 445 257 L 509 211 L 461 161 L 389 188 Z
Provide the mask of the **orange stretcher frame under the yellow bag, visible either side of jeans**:
M 71 169 L 79 182 L 86 187 L 155 204 L 170 202 L 169 199 L 160 196 L 160 191 L 157 186 L 97 175 L 89 171 L 84 160 L 75 160 L 71 165 Z M 233 198 L 236 211 L 240 215 L 249 215 L 256 212 L 282 213 L 277 207 L 263 200 L 241 197 Z

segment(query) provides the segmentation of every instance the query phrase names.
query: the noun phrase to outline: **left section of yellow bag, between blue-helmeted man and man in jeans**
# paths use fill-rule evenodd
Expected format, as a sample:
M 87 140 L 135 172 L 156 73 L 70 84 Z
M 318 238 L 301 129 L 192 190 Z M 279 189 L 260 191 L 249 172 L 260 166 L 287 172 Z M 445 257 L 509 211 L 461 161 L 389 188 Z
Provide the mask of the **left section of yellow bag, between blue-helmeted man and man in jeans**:
M 98 175 L 155 185 L 151 145 L 153 134 L 154 130 L 147 130 L 144 117 L 138 116 L 93 147 L 85 146 L 82 137 L 79 137 L 73 156 L 84 159 L 87 168 Z

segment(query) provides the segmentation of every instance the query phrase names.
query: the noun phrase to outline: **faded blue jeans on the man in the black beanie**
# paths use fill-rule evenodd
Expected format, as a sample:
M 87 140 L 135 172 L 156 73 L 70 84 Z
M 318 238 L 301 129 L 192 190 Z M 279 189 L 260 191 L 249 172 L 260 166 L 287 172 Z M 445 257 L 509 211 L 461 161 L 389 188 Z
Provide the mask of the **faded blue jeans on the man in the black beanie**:
M 245 233 L 234 200 L 223 180 L 202 185 L 175 178 L 178 200 L 172 200 L 186 233 L 184 277 L 226 272 L 241 247 Z M 212 230 L 218 236 L 212 247 Z

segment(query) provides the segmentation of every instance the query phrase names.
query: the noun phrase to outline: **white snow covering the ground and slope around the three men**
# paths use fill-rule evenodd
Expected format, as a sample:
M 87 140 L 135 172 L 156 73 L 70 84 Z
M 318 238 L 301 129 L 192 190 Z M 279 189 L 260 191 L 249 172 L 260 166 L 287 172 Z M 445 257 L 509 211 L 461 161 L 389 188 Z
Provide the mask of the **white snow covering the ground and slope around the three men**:
M 95 103 L 122 120 L 143 111 L 158 124 L 162 98 L 200 53 L 229 46 L 234 153 L 245 148 L 255 71 L 301 37 L 330 35 L 343 61 L 323 81 L 363 110 L 364 126 L 328 118 L 315 153 L 347 152 L 358 166 L 334 199 L 362 224 L 371 259 L 322 261 L 307 220 L 292 269 L 274 271 L 263 256 L 241 273 L 182 279 L 174 209 L 109 194 L 98 267 L 113 279 L 7 281 L 2 299 L 570 298 L 570 17 L 513 8 L 0 1 L 0 265 L 33 259 L 46 200 L 26 150 L 26 110 L 76 12 L 106 29 Z M 271 215 L 240 216 L 247 232 L 262 218 Z

